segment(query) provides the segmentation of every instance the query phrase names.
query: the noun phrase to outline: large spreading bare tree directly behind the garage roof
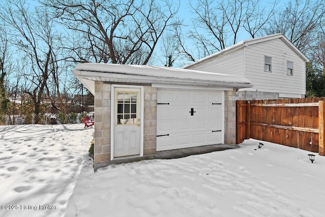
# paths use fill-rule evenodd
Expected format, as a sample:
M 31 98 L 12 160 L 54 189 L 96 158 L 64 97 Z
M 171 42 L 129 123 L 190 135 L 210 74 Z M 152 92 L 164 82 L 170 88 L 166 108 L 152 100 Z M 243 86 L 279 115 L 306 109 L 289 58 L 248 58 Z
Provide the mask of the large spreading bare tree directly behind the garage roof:
M 179 6 L 169 0 L 159 5 L 156 0 L 41 2 L 61 24 L 79 33 L 83 44 L 72 49 L 82 55 L 81 62 L 144 65 L 166 28 L 174 25 Z

